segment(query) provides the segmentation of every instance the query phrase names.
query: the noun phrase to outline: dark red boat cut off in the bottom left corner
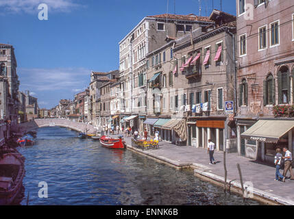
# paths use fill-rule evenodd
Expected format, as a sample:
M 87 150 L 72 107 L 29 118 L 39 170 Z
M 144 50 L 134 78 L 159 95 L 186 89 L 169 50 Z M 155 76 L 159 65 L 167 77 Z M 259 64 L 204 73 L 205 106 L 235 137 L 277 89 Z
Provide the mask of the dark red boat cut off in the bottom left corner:
M 24 157 L 20 153 L 0 156 L 0 205 L 10 205 L 18 196 L 25 176 Z

